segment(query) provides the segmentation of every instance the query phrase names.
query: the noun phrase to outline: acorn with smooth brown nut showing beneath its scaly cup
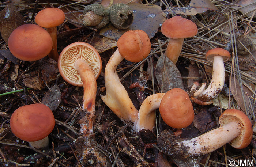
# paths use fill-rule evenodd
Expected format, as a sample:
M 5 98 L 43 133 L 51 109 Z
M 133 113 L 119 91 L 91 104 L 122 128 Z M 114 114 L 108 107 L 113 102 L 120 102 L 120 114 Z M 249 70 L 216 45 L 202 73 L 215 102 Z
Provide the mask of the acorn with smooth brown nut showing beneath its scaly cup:
M 83 11 L 83 25 L 100 29 L 109 23 L 109 11 L 101 4 L 86 6 Z

